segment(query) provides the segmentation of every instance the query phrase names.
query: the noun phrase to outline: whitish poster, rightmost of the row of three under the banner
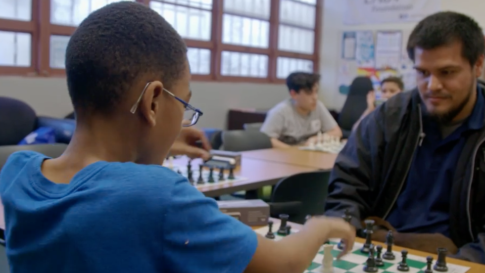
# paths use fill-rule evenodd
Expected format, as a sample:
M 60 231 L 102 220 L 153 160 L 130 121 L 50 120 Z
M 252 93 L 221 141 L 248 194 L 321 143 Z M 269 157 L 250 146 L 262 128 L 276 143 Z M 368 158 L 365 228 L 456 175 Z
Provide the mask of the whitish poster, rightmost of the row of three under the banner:
M 403 32 L 377 31 L 375 40 L 375 68 L 399 69 L 401 66 Z

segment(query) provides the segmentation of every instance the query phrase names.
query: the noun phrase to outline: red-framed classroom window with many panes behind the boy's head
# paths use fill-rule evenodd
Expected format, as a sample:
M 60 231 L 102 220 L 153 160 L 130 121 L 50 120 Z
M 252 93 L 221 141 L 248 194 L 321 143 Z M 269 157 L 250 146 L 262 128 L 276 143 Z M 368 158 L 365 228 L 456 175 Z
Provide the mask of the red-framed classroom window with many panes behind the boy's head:
M 122 0 L 0 0 L 0 76 L 65 76 L 69 37 Z M 184 38 L 192 80 L 283 83 L 315 71 L 323 0 L 131 0 Z

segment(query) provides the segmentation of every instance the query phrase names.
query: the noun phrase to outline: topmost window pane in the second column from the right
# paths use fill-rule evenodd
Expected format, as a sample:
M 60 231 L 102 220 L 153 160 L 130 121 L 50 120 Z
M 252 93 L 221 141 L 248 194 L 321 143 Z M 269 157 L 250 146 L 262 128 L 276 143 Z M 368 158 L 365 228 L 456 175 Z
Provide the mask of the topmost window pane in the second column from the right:
M 269 20 L 270 0 L 224 0 L 224 11 Z

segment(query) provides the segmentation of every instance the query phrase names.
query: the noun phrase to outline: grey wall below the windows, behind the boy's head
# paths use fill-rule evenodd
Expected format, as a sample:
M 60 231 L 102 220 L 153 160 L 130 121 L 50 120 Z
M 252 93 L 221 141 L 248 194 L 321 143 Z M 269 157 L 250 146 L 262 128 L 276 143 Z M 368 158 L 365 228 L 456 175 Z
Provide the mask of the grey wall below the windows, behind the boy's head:
M 204 112 L 199 127 L 225 128 L 228 109 L 269 109 L 288 95 L 281 84 L 192 82 L 191 88 L 190 104 Z M 72 111 L 64 78 L 0 77 L 0 96 L 27 102 L 39 115 Z

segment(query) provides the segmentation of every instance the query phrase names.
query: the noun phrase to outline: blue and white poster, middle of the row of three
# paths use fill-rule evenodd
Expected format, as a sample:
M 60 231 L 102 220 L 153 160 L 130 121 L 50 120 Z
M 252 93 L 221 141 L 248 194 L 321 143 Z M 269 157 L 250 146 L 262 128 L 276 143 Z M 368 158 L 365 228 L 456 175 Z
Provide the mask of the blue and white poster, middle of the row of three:
M 374 32 L 356 31 L 355 60 L 359 67 L 375 67 Z

